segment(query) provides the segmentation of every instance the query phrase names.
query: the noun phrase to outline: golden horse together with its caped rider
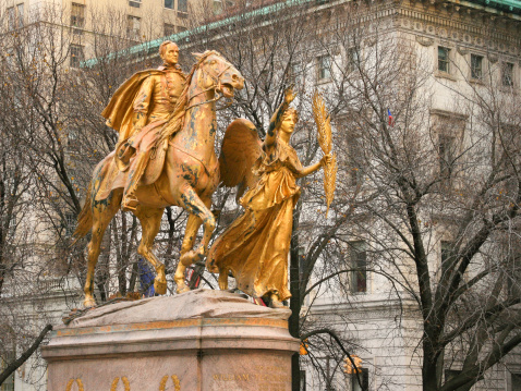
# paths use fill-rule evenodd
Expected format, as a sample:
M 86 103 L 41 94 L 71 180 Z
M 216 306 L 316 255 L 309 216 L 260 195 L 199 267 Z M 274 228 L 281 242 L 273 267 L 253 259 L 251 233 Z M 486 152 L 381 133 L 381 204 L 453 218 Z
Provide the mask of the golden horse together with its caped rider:
M 77 240 L 93 232 L 84 289 L 86 307 L 96 304 L 94 269 L 104 232 L 122 207 L 123 193 L 126 201 L 123 207 L 142 224 L 137 253 L 156 269 L 156 293 L 166 293 L 167 281 L 165 265 L 152 247 L 167 206 L 181 206 L 190 213 L 174 276 L 178 292 L 187 290 L 186 266 L 207 254 L 216 224 L 209 207 L 219 184 L 219 162 L 215 155 L 216 101 L 221 96 L 232 98 L 234 89 L 243 88 L 244 78 L 222 56 L 209 50 L 196 54 L 197 61 L 185 77 L 175 66 L 178 52 L 173 42 L 161 45 L 163 68 L 132 76 L 104 111 L 120 138 L 116 151 L 94 170 L 74 233 Z M 201 224 L 203 240 L 193 251 Z

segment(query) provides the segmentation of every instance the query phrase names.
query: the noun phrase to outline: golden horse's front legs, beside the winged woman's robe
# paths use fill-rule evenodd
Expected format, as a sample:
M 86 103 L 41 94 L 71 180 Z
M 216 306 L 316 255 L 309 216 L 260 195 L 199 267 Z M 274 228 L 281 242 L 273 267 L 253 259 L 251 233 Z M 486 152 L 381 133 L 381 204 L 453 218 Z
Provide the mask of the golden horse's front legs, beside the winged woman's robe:
M 175 271 L 175 283 L 178 283 L 178 292 L 187 291 L 187 286 L 184 284 L 184 270 L 187 266 L 197 260 L 203 260 L 208 253 L 208 243 L 211 237 L 211 233 L 216 227 L 216 220 L 214 213 L 209 209 L 211 198 L 208 197 L 203 201 L 197 193 L 186 186 L 181 194 L 181 206 L 187 210 L 191 215 L 189 223 L 186 224 L 186 233 L 183 241 L 183 251 L 181 258 L 179 259 L 178 269 Z M 192 218 L 192 215 L 194 218 Z M 191 221 L 192 219 L 192 221 Z M 201 223 L 203 223 L 203 240 L 196 251 L 191 249 L 195 240 L 195 234 Z

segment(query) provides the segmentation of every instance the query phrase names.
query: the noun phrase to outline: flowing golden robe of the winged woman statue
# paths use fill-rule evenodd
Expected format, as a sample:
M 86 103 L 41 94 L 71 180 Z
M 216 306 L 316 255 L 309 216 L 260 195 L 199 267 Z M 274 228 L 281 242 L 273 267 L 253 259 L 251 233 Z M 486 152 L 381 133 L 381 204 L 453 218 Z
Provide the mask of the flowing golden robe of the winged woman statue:
M 244 213 L 216 240 L 207 267 L 231 270 L 238 288 L 251 296 L 272 292 L 283 301 L 291 297 L 288 254 L 302 164 L 291 146 L 276 142 L 265 146 L 256 170 L 259 181 L 241 198 Z

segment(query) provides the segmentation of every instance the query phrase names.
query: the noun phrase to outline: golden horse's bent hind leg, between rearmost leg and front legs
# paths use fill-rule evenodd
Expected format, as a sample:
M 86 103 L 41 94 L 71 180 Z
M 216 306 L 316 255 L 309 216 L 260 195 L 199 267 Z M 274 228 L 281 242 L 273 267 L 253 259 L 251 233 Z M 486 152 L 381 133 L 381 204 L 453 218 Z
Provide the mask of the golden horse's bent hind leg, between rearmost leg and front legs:
M 154 253 L 152 247 L 154 240 L 156 239 L 159 228 L 161 227 L 161 218 L 165 208 L 145 208 L 141 205 L 137 206 L 133 213 L 140 219 L 143 233 L 141 237 L 140 246 L 137 247 L 137 254 L 145 257 L 154 269 L 156 269 L 156 278 L 154 279 L 154 291 L 157 294 L 167 293 L 167 278 L 165 276 L 165 264 L 160 262 Z

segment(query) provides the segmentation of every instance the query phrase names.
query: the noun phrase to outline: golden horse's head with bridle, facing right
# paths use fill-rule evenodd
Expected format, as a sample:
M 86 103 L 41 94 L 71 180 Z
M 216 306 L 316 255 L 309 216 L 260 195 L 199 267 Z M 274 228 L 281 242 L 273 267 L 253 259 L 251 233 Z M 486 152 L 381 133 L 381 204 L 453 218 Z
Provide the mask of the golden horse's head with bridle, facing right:
M 241 72 L 217 51 L 207 50 L 203 54 L 194 56 L 199 61 L 206 88 L 215 86 L 216 90 L 227 98 L 232 98 L 235 89 L 244 88 L 244 77 Z

